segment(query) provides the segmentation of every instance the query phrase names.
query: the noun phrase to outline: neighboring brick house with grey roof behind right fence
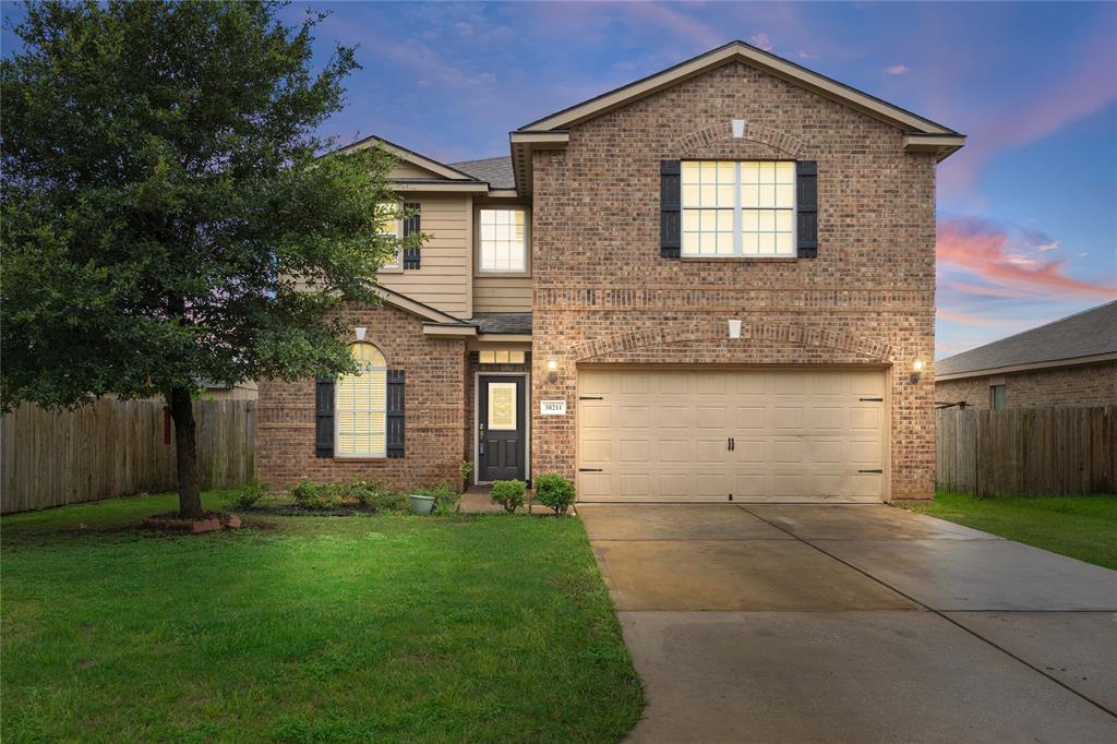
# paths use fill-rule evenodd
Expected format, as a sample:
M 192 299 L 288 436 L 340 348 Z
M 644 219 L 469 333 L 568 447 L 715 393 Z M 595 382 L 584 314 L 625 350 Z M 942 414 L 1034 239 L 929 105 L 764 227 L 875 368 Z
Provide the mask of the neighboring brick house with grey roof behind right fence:
M 939 406 L 1117 406 L 1117 302 L 935 364 Z

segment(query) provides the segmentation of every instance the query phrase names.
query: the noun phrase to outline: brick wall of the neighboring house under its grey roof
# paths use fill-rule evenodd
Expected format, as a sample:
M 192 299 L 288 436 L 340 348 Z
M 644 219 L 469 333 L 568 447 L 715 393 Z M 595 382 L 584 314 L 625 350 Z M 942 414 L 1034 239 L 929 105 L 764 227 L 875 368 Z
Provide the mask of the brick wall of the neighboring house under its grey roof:
M 935 383 L 935 400 L 987 409 L 990 385 L 1002 382 L 1009 408 L 1117 406 L 1117 362 L 944 380 Z

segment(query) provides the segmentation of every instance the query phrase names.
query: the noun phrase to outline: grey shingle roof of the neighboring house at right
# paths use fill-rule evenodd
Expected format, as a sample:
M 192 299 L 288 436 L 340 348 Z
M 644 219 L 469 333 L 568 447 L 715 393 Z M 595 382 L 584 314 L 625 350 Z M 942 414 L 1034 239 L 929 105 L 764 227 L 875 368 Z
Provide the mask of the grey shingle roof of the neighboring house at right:
M 971 349 L 935 363 L 935 374 L 1117 353 L 1117 301 Z

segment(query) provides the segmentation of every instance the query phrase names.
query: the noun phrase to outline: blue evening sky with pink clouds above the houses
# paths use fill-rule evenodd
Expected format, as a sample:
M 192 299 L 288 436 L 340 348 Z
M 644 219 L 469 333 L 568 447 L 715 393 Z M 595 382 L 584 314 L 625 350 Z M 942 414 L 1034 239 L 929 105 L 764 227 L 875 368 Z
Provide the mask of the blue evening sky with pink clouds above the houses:
M 514 128 L 747 41 L 968 135 L 938 169 L 937 359 L 1117 299 L 1117 3 L 296 0 L 281 15 L 308 8 L 332 13 L 317 60 L 340 42 L 362 65 L 323 134 L 443 162 L 507 155 Z

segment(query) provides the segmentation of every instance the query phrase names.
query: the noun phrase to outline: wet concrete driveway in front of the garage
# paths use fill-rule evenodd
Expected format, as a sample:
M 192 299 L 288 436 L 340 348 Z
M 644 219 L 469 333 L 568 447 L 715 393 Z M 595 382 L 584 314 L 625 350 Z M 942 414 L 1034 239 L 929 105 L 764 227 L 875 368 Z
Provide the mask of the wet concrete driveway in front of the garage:
M 1117 572 L 885 505 L 579 514 L 631 741 L 1117 741 Z

